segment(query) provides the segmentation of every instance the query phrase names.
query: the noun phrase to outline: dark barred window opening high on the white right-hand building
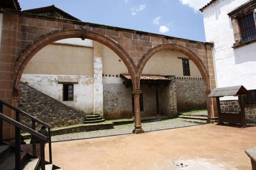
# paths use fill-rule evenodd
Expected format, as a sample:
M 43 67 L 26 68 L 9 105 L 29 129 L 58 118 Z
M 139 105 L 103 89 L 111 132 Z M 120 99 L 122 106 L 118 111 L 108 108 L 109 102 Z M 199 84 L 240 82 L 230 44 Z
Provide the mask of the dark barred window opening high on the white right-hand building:
M 256 27 L 253 13 L 240 19 L 243 42 L 256 39 Z

